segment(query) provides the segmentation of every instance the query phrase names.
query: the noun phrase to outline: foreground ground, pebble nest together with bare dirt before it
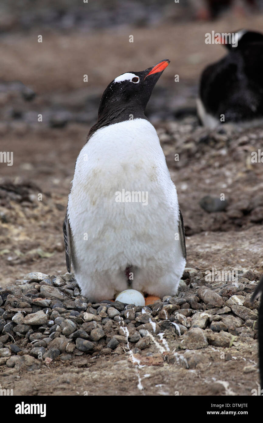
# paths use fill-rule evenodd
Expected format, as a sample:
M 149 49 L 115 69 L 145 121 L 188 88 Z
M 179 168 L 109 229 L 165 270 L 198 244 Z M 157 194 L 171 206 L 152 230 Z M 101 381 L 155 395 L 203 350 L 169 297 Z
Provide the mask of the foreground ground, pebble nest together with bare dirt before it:
M 14 395 L 249 395 L 258 275 L 220 279 L 186 268 L 178 296 L 135 307 L 88 302 L 73 274 L 29 273 L 0 291 L 0 384 Z

